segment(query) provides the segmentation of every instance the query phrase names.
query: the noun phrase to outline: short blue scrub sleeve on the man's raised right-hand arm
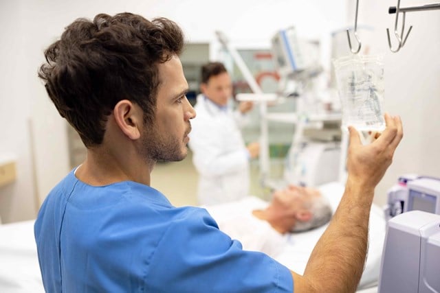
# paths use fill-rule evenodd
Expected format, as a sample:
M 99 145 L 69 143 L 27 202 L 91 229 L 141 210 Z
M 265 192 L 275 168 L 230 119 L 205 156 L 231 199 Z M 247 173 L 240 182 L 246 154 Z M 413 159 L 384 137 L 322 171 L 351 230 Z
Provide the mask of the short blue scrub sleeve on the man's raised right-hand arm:
M 293 292 L 289 269 L 243 250 L 205 209 L 174 220 L 147 263 L 146 292 Z

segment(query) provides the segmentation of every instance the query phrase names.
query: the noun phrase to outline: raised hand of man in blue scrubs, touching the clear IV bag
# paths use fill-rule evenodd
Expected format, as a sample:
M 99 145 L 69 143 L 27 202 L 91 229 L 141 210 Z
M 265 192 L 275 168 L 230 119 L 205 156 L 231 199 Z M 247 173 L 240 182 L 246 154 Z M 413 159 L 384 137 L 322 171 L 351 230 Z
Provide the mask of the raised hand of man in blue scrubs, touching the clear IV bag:
M 373 191 L 393 161 L 393 155 L 404 135 L 399 116 L 385 114 L 386 128 L 368 145 L 363 145 L 360 134 L 349 126 L 350 144 L 347 156 L 348 180 L 363 189 Z

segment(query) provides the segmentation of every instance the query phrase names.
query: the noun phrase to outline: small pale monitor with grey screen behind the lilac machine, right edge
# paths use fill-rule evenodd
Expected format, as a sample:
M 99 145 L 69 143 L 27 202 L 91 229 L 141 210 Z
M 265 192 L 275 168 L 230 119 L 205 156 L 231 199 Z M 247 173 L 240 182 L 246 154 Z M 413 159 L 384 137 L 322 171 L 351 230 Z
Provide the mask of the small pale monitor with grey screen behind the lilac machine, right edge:
M 406 211 L 426 211 L 440 214 L 440 180 L 420 178 L 408 183 Z

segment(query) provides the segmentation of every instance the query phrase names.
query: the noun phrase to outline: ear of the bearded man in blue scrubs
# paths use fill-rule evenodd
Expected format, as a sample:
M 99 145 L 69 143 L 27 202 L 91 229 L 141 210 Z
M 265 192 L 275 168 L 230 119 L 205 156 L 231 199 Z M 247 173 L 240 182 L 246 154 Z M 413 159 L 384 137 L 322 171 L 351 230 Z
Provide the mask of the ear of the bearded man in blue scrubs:
M 113 116 L 120 130 L 129 139 L 140 138 L 143 121 L 142 109 L 128 99 L 122 99 L 113 108 Z

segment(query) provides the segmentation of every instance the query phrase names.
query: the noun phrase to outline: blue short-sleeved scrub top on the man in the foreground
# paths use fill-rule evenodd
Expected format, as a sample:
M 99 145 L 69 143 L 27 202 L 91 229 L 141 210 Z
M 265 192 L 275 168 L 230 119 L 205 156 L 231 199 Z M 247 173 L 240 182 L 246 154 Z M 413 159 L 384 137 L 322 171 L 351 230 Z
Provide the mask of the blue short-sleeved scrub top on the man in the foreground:
M 92 187 L 72 171 L 34 228 L 46 292 L 293 291 L 285 266 L 242 250 L 205 209 L 132 181 Z

